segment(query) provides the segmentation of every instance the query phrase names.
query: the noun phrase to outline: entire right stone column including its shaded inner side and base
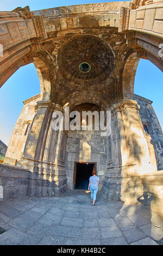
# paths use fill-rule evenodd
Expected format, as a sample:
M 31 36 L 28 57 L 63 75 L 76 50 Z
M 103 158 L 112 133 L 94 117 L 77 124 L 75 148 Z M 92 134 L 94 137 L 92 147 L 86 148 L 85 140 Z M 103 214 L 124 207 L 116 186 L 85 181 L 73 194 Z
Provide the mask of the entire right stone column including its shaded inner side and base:
M 117 127 L 112 123 L 111 149 L 108 148 L 112 151 L 112 160 L 108 162 L 105 174 L 105 195 L 112 200 L 138 203 L 137 198 L 143 192 L 143 185 L 137 177 L 155 171 L 139 115 L 139 106 L 135 100 L 123 100 L 112 106 L 111 111 L 111 120 L 116 117 Z M 112 129 L 117 132 L 116 135 Z

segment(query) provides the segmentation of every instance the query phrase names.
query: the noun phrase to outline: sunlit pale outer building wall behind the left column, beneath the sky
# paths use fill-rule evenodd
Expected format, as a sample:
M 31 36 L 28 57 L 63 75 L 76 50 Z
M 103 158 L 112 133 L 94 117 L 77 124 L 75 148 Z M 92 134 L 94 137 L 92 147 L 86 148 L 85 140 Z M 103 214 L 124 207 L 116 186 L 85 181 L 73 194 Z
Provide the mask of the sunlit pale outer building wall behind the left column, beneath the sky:
M 4 163 L 15 165 L 21 159 L 28 135 L 27 126 L 32 123 L 35 105 L 39 99 L 40 94 L 37 94 L 23 102 L 24 106 L 12 132 Z

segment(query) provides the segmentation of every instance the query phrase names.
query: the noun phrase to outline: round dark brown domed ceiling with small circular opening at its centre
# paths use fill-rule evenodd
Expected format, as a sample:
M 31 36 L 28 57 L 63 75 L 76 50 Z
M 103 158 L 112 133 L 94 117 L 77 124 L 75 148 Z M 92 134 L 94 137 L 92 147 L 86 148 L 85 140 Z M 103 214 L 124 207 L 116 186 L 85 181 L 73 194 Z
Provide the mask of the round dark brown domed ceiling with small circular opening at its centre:
M 77 83 L 98 82 L 106 79 L 114 69 L 114 57 L 101 39 L 82 35 L 67 42 L 58 54 L 58 67 L 62 77 Z

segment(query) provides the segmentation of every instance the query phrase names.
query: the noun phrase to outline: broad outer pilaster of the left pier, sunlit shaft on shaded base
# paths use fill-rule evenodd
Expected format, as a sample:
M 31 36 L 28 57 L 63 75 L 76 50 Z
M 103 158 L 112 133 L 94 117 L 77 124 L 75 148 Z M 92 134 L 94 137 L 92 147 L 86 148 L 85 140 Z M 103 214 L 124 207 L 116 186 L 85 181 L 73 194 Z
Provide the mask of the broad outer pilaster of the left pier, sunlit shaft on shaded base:
M 17 162 L 18 167 L 29 169 L 28 196 L 42 195 L 41 156 L 45 147 L 45 137 L 51 117 L 51 101 L 38 101 L 36 114 L 24 147 L 23 157 Z M 46 181 L 47 183 L 47 181 Z

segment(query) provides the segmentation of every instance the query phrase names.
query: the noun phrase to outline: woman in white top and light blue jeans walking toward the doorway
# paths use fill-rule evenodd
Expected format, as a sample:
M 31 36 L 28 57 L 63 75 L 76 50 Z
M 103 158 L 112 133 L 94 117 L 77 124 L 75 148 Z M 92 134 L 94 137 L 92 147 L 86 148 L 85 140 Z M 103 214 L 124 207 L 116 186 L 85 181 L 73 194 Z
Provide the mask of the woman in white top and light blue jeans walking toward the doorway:
M 93 168 L 92 176 L 90 177 L 88 190 L 91 190 L 91 200 L 93 205 L 95 205 L 96 194 L 98 191 L 99 178 L 96 176 L 96 170 Z

